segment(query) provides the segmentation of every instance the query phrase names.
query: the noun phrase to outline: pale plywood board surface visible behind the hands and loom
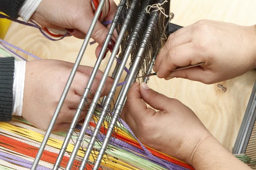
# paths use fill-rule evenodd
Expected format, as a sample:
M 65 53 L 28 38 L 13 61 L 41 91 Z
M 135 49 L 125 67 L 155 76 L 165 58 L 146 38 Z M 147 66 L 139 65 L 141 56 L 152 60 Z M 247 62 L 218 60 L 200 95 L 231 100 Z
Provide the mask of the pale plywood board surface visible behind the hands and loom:
M 198 20 L 209 19 L 250 26 L 255 23 L 255 6 L 255 0 L 172 0 L 171 11 L 175 14 L 172 22 L 188 26 Z M 38 57 L 69 62 L 75 61 L 83 41 L 68 37 L 53 42 L 43 37 L 37 29 L 17 23 L 12 23 L 5 40 Z M 81 64 L 94 65 L 95 48 L 96 45 L 87 48 Z M 109 54 L 102 62 L 102 71 L 108 57 Z M 232 150 L 255 80 L 256 71 L 250 71 L 243 76 L 214 85 L 185 79 L 166 81 L 156 77 L 151 77 L 148 85 L 189 106 L 221 144 Z

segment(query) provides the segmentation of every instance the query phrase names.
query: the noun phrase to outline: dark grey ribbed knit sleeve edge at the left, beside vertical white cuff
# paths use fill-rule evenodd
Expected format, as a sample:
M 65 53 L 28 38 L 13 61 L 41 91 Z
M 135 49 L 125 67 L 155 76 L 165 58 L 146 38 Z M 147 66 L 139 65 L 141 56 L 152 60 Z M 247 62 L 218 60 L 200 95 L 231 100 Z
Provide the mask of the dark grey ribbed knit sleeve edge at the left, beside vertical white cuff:
M 12 119 L 14 57 L 0 57 L 0 122 Z

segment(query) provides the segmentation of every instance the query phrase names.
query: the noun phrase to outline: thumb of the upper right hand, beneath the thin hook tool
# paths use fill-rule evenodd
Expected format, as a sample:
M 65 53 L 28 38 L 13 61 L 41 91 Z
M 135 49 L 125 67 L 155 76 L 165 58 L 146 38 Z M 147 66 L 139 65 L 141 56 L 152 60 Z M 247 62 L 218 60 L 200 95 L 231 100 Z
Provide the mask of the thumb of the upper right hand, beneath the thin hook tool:
M 172 71 L 166 80 L 172 79 L 174 77 L 189 79 L 198 82 L 207 82 L 209 76 L 207 76 L 206 71 L 204 68 L 197 66 L 192 68 L 186 68 L 184 70 Z

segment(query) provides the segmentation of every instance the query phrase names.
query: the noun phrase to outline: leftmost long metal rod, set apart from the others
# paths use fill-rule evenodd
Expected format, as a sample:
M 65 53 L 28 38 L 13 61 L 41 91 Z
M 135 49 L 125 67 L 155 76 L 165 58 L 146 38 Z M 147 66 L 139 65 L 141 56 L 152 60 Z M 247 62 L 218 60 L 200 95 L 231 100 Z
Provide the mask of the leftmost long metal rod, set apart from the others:
M 74 79 L 74 77 L 75 77 L 75 75 L 76 75 L 76 71 L 77 71 L 77 69 L 78 69 L 78 67 L 79 67 L 79 65 L 80 65 L 81 59 L 82 59 L 82 57 L 83 57 L 83 55 L 84 55 L 84 51 L 85 51 L 85 49 L 86 49 L 86 47 L 87 47 L 87 45 L 88 45 L 88 42 L 89 42 L 89 40 L 90 40 L 90 37 L 91 37 L 91 35 L 92 35 L 92 33 L 93 33 L 93 30 L 94 30 L 94 28 L 95 28 L 95 26 L 96 26 L 96 23 L 97 23 L 98 19 L 99 19 L 99 15 L 100 15 L 100 13 L 101 13 L 101 11 L 102 11 L 102 8 L 103 8 L 103 6 L 104 6 L 104 3 L 105 3 L 105 0 L 101 0 L 101 1 L 99 2 L 99 6 L 98 6 L 98 8 L 97 8 L 97 10 L 96 10 L 96 12 L 95 12 L 95 14 L 94 14 L 93 20 L 92 20 L 92 22 L 91 22 L 91 24 L 90 24 L 89 30 L 88 30 L 88 32 L 87 32 L 87 34 L 86 34 L 86 37 L 85 37 L 85 39 L 84 39 L 84 42 L 83 42 L 83 44 L 82 44 L 82 46 L 81 46 L 81 49 L 80 49 L 80 51 L 79 51 L 79 54 L 78 54 L 78 56 L 77 56 L 77 58 L 76 58 L 76 62 L 75 62 L 75 64 L 74 64 L 74 66 L 73 66 L 73 68 L 72 68 L 72 71 L 71 71 L 71 73 L 70 73 L 70 76 L 69 76 L 69 78 L 68 78 L 68 80 L 67 80 L 67 83 L 66 83 L 66 86 L 65 86 L 65 88 L 64 88 L 64 91 L 63 91 L 63 93 L 61 94 L 61 98 L 60 98 L 60 100 L 59 100 L 59 102 L 58 102 L 57 108 L 56 108 L 56 110 L 55 110 L 55 112 L 54 112 L 54 114 L 53 114 L 53 116 L 52 116 L 52 120 L 51 120 L 51 122 L 50 122 L 50 124 L 49 124 L 49 127 L 48 127 L 48 129 L 47 129 L 47 131 L 46 131 L 46 133 L 45 133 L 45 135 L 44 135 L 44 139 L 43 139 L 43 141 L 42 141 L 42 143 L 41 143 L 41 145 L 40 145 L 40 147 L 39 147 L 39 149 L 38 149 L 38 153 L 37 153 L 37 155 L 35 156 L 35 160 L 34 160 L 34 162 L 33 162 L 33 164 L 32 164 L 31 170 L 35 170 L 36 167 L 37 167 L 37 165 L 38 165 L 38 162 L 40 161 L 40 158 L 41 158 L 41 156 L 42 156 L 42 153 L 43 153 L 43 151 L 44 151 L 44 148 L 45 148 L 45 146 L 46 146 L 46 144 L 47 144 L 47 141 L 48 141 L 48 139 L 49 139 L 49 136 L 50 136 L 50 134 L 51 134 L 51 132 L 52 132 L 52 129 L 53 129 L 54 125 L 55 125 L 56 119 L 58 118 L 58 114 L 59 114 L 59 112 L 61 111 L 61 107 L 62 107 L 62 105 L 63 105 L 63 103 L 64 103 L 64 100 L 66 99 L 67 93 L 68 93 L 68 91 L 69 91 L 69 89 L 70 89 L 70 85 L 72 84 L 73 79 Z

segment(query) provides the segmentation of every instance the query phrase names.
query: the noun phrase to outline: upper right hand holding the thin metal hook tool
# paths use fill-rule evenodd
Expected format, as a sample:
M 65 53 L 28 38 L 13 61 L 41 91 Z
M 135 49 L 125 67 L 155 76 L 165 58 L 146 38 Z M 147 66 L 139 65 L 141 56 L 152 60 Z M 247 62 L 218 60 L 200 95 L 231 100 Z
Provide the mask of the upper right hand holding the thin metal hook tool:
M 159 78 L 212 84 L 256 68 L 256 26 L 200 20 L 171 34 L 157 56 Z M 204 65 L 173 71 L 177 66 Z

